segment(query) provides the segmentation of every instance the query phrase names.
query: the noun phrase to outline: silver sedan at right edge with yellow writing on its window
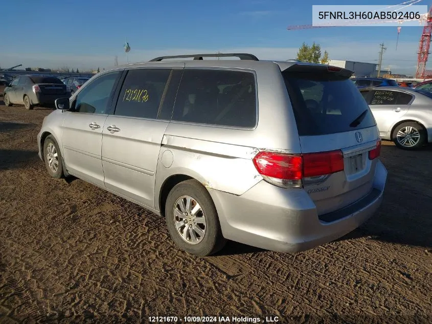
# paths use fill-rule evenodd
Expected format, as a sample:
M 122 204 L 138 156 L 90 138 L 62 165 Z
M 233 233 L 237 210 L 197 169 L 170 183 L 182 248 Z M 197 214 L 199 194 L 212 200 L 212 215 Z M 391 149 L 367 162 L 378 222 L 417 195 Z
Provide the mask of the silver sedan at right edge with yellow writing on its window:
M 360 90 L 378 125 L 382 139 L 403 149 L 432 142 L 432 93 L 407 87 Z

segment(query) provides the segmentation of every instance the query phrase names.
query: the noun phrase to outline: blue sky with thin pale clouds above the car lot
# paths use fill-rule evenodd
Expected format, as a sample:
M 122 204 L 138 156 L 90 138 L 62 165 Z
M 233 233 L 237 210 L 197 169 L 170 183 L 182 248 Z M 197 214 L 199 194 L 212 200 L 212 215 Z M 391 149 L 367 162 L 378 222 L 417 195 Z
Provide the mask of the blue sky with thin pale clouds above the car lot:
M 378 4 L 386 7 L 404 1 Z M 289 59 L 295 58 L 303 42 L 315 41 L 331 59 L 376 63 L 379 44 L 384 42 L 383 68 L 390 65 L 396 73 L 415 72 L 423 27 L 402 25 L 397 51 L 396 27 L 286 30 L 288 25 L 311 24 L 314 4 L 377 5 L 372 0 L 4 1 L 0 66 L 109 68 L 116 55 L 119 64 L 126 63 L 127 38 L 130 62 L 217 51 Z M 429 3 L 423 0 L 416 5 Z

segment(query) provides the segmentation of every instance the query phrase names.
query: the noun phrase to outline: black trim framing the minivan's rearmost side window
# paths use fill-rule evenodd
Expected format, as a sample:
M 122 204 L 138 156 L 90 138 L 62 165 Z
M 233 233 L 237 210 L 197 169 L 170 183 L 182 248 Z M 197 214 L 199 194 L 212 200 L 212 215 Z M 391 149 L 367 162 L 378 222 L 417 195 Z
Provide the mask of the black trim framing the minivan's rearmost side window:
M 184 71 L 186 70 L 223 70 L 223 71 L 236 71 L 236 72 L 248 72 L 252 73 L 254 75 L 255 80 L 255 113 L 256 113 L 256 119 L 255 119 L 255 126 L 252 127 L 242 127 L 242 126 L 225 126 L 225 125 L 216 125 L 216 124 L 203 124 L 203 123 L 195 123 L 192 121 L 178 121 L 178 120 L 172 120 L 171 115 L 171 121 L 170 123 L 175 124 L 184 124 L 184 125 L 191 125 L 191 126 L 203 126 L 203 127 L 212 127 L 212 128 L 224 128 L 224 129 L 237 129 L 241 131 L 254 131 L 258 127 L 258 118 L 259 118 L 259 112 L 258 112 L 258 79 L 257 79 L 257 72 L 253 69 L 246 69 L 246 68 L 224 68 L 224 67 L 185 67 Z M 181 84 L 181 80 L 183 80 L 183 75 L 181 76 L 179 87 Z M 178 89 L 177 89 L 177 95 L 178 95 Z M 177 99 L 177 96 L 176 98 Z M 175 100 L 176 101 L 176 100 Z M 174 107 L 175 107 L 175 101 L 173 106 L 173 113 L 174 113 Z

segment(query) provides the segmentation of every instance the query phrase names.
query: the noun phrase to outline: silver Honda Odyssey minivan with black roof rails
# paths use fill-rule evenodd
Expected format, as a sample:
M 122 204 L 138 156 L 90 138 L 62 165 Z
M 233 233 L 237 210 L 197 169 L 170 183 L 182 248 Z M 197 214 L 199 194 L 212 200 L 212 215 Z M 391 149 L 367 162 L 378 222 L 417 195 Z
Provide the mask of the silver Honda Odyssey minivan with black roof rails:
M 307 250 L 357 228 L 383 197 L 378 129 L 350 76 L 242 53 L 116 67 L 57 100 L 39 157 L 53 178 L 163 215 L 189 253 L 226 240 Z

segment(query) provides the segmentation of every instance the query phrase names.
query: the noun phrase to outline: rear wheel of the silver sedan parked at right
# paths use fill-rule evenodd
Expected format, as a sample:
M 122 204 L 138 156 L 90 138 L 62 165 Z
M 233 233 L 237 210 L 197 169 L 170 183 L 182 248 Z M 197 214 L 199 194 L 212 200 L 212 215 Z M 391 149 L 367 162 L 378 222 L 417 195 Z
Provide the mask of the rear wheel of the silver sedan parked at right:
M 393 142 L 401 149 L 416 150 L 423 146 L 427 140 L 426 129 L 419 123 L 405 122 L 393 131 Z

